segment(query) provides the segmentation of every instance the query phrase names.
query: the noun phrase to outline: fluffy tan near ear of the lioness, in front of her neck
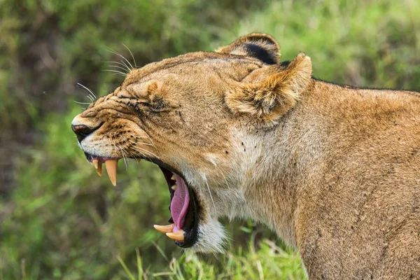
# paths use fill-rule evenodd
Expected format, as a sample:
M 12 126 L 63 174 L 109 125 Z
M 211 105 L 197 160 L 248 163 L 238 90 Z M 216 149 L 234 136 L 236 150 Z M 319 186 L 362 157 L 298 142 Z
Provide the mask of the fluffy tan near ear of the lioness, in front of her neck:
M 301 52 L 285 70 L 260 83 L 246 83 L 230 90 L 225 102 L 233 113 L 273 123 L 295 106 L 311 81 L 311 73 L 311 59 Z

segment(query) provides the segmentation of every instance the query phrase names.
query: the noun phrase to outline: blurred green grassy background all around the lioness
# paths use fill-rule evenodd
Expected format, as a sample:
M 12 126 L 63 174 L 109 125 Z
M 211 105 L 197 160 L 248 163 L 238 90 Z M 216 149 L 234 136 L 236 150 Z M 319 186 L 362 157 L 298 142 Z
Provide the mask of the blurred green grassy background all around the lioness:
M 303 279 L 298 254 L 262 225 L 228 223 L 221 255 L 184 253 L 160 171 L 120 164 L 99 178 L 73 116 L 123 77 L 105 71 L 271 34 L 282 60 L 304 51 L 314 76 L 420 90 L 420 1 L 0 0 L 1 279 Z M 118 70 L 118 69 L 115 69 Z

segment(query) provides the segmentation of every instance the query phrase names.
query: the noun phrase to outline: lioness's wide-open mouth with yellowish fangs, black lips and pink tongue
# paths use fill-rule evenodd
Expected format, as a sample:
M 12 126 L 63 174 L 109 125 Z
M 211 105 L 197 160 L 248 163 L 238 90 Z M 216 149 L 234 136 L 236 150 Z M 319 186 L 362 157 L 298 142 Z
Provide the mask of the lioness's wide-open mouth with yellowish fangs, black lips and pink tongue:
M 116 186 L 119 158 L 104 158 L 88 153 L 85 153 L 85 156 L 87 161 L 92 163 L 99 176 L 102 176 L 102 164 L 105 163 L 106 173 L 113 186 Z M 193 246 L 197 241 L 198 214 L 200 211 L 194 190 L 188 186 L 183 176 L 172 167 L 160 161 L 153 163 L 162 170 L 171 197 L 171 203 L 169 204 L 171 218 L 168 221 L 170 224 L 153 226 L 167 237 L 174 239 L 176 245 L 182 248 Z

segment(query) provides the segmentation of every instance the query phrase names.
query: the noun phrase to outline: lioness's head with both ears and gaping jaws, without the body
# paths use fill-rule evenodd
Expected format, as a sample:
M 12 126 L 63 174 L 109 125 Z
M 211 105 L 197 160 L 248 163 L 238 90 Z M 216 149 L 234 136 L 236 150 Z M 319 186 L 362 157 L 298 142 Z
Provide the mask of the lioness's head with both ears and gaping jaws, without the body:
M 155 228 L 181 247 L 220 251 L 218 218 L 253 216 L 247 182 L 261 164 L 260 131 L 281 124 L 311 81 L 309 57 L 279 58 L 271 36 L 250 34 L 216 52 L 132 69 L 73 119 L 73 131 L 87 160 L 99 173 L 105 163 L 114 185 L 123 157 L 159 165 L 172 225 Z

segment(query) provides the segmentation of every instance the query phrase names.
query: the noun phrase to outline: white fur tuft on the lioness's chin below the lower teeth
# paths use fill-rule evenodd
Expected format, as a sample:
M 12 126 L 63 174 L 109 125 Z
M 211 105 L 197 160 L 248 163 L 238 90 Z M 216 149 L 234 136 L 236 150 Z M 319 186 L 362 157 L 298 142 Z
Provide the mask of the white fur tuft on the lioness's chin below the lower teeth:
M 211 220 L 198 225 L 198 240 L 190 250 L 202 253 L 223 253 L 226 248 L 226 235 L 223 225 L 218 220 Z

